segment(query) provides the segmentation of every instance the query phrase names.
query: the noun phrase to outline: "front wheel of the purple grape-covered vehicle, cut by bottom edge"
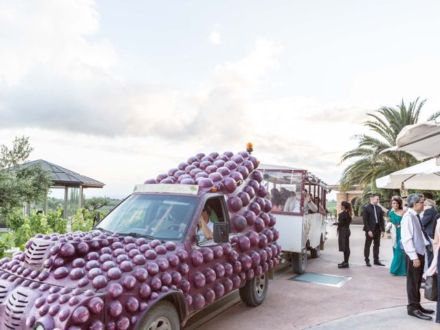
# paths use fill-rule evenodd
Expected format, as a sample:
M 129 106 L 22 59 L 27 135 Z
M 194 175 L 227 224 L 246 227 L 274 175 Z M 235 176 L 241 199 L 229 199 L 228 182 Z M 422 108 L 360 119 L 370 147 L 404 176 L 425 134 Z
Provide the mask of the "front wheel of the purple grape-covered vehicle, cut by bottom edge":
M 179 330 L 179 315 L 172 303 L 169 301 L 161 301 L 147 312 L 137 329 Z

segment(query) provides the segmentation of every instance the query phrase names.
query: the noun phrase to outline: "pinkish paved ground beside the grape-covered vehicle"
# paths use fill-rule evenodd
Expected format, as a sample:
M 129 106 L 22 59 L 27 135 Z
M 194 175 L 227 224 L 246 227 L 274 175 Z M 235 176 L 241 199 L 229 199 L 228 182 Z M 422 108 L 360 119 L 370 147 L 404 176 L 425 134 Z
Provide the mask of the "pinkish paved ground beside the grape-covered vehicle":
M 389 273 L 391 239 L 381 240 L 380 259 L 386 266 L 366 267 L 362 225 L 352 225 L 350 268 L 338 269 L 342 252 L 336 228 L 328 231 L 325 250 L 318 259 L 309 257 L 306 272 L 346 276 L 349 281 L 342 287 L 290 281 L 296 274 L 286 268 L 271 281 L 263 305 L 236 303 L 197 329 L 440 329 L 434 321 L 406 314 L 406 278 Z M 424 298 L 421 303 L 435 309 L 435 303 Z

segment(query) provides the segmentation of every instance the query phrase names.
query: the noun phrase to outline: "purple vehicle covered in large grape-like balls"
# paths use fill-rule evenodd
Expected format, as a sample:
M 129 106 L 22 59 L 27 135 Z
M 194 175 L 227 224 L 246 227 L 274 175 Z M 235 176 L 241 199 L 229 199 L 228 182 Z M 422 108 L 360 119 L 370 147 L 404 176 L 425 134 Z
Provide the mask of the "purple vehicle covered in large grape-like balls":
M 0 330 L 179 329 L 237 289 L 260 305 L 281 247 L 258 166 L 198 154 L 91 232 L 36 235 L 0 260 Z

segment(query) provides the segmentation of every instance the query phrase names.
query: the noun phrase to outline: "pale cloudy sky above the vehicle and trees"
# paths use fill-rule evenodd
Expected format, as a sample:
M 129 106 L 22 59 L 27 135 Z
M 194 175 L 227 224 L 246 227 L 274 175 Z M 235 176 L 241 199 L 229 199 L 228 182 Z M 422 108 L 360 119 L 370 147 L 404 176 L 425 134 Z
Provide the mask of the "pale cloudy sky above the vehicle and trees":
M 438 1 L 0 0 L 0 144 L 124 197 L 254 143 L 336 184 L 365 114 L 439 110 Z

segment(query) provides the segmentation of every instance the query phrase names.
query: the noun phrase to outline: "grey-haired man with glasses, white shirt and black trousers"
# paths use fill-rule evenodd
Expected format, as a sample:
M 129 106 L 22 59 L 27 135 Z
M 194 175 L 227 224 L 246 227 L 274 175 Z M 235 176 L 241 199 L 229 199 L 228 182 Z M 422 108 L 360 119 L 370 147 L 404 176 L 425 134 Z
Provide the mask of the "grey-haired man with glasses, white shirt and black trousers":
M 425 314 L 432 314 L 432 309 L 420 305 L 420 285 L 425 264 L 426 245 L 430 244 L 424 231 L 419 212 L 423 210 L 423 195 L 411 194 L 407 199 L 408 210 L 401 219 L 401 244 L 405 251 L 406 294 L 408 295 L 408 315 L 422 320 L 432 320 Z M 424 313 L 424 314 L 423 314 Z

